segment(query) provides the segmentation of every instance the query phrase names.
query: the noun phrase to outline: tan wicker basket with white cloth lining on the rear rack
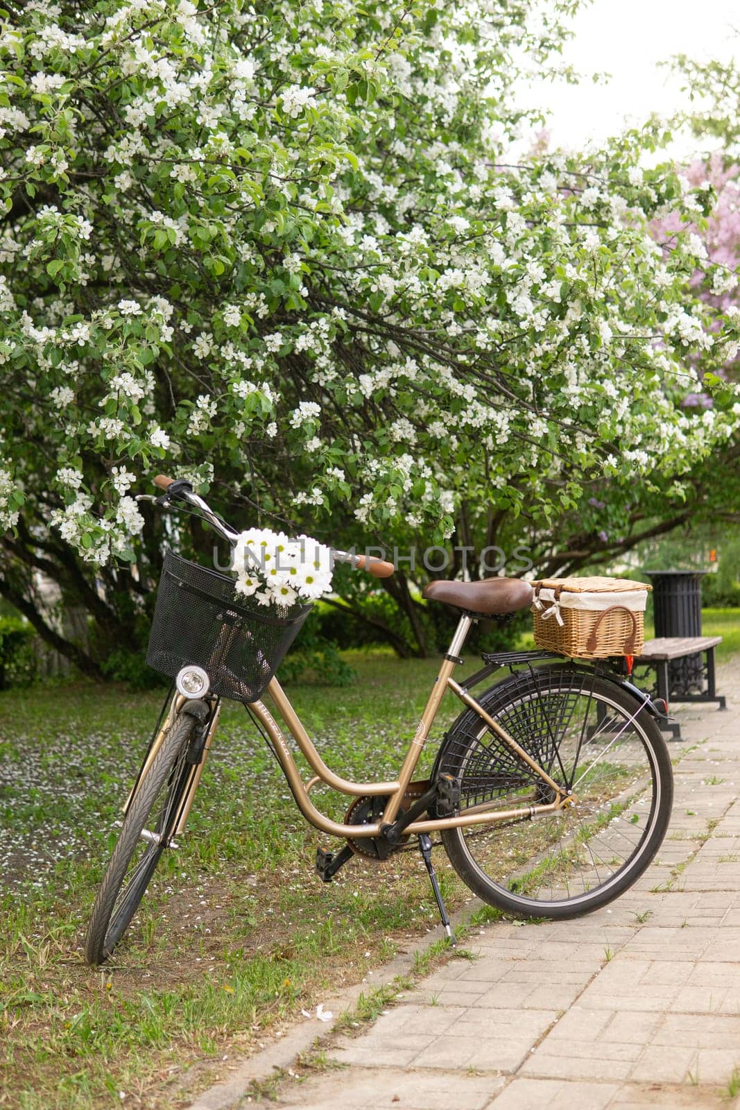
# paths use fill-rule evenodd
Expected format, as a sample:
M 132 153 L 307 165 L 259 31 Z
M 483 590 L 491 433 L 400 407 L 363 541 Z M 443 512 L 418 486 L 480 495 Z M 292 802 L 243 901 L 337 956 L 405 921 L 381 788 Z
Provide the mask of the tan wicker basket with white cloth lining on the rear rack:
M 604 659 L 639 655 L 645 642 L 643 582 L 629 578 L 544 578 L 534 582 L 535 644 L 558 655 Z

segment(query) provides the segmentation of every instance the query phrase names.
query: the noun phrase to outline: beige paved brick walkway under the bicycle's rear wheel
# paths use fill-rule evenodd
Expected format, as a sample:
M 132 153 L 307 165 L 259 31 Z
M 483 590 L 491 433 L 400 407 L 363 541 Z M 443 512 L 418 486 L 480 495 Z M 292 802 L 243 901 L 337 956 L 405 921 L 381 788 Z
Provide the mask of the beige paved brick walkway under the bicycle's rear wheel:
M 487 927 L 466 942 L 475 961 L 339 1040 L 344 1067 L 283 1084 L 278 1104 L 740 1107 L 740 662 L 719 687 L 728 712 L 680 713 L 671 827 L 631 890 L 575 921 Z

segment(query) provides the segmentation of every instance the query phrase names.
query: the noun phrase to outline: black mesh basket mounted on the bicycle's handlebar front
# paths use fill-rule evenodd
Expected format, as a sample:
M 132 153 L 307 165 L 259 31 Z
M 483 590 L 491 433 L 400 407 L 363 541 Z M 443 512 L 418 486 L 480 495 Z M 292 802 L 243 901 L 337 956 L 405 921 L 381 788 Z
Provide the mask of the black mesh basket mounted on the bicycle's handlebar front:
M 211 689 L 236 702 L 264 693 L 311 605 L 260 605 L 234 579 L 168 552 L 146 663 L 174 678 L 187 664 L 207 672 Z

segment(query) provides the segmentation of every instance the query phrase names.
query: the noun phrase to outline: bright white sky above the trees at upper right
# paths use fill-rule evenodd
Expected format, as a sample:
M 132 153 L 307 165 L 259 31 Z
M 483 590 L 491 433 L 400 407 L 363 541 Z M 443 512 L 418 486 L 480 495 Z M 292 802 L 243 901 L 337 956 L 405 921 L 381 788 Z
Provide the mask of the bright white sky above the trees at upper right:
M 580 148 L 589 139 L 614 134 L 651 111 L 670 114 L 681 102 L 680 82 L 658 68 L 676 53 L 697 60 L 728 60 L 740 54 L 738 0 L 595 0 L 574 19 L 575 39 L 564 60 L 585 74 L 607 71 L 606 85 L 585 80 L 580 85 L 538 83 L 521 90 L 528 103 L 553 112 L 551 144 Z M 697 140 L 678 139 L 675 157 L 692 153 Z

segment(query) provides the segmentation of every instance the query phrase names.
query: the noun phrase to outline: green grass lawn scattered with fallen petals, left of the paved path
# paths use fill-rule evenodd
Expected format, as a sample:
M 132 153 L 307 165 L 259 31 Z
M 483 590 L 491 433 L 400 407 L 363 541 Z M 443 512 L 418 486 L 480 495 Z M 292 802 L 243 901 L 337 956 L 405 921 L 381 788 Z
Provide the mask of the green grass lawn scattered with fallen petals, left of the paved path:
M 720 659 L 740 650 L 739 618 L 703 614 L 703 630 L 724 636 Z M 437 662 L 351 662 L 353 686 L 288 693 L 335 770 L 392 778 Z M 0 1107 L 186 1106 L 224 1057 L 344 983 L 372 989 L 373 968 L 437 924 L 416 851 L 379 866 L 356 857 L 321 882 L 314 855 L 331 841 L 303 821 L 243 708 L 226 703 L 180 850 L 116 958 L 88 968 L 88 914 L 162 697 L 89 684 L 0 694 Z M 437 739 L 456 713 L 446 698 Z M 344 813 L 346 799 L 316 798 Z M 469 892 L 444 854 L 435 862 L 459 907 Z

